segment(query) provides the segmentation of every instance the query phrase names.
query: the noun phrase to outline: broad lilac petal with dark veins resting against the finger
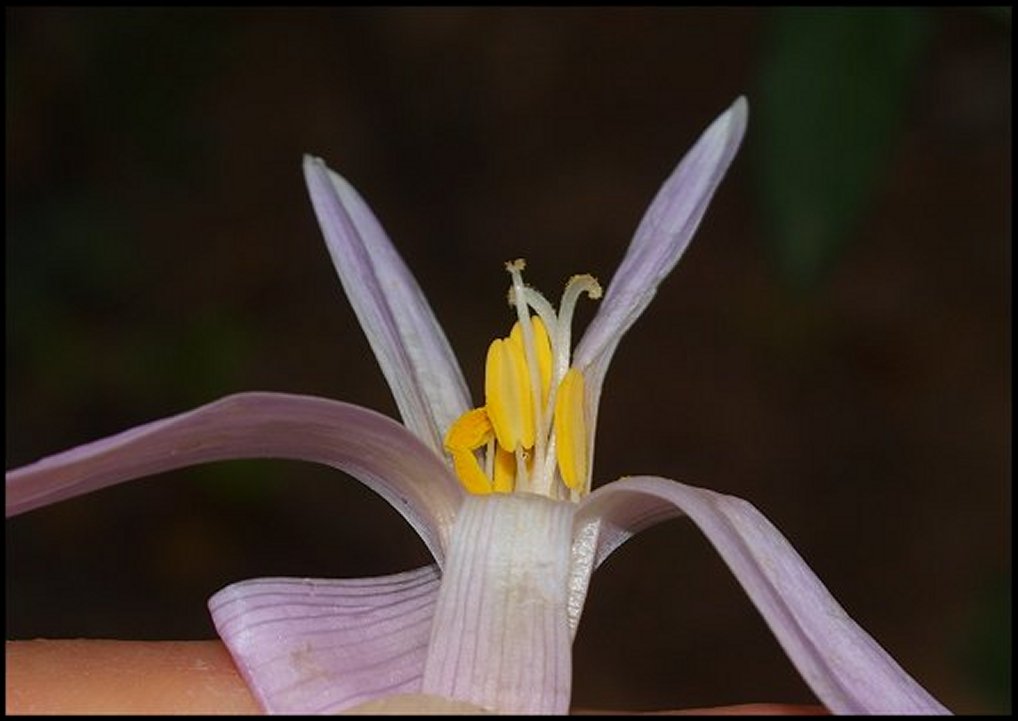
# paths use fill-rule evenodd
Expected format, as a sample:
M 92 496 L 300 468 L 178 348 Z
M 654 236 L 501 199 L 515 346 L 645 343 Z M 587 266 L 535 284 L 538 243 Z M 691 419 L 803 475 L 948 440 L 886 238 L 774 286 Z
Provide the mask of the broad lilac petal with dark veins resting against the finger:
M 414 694 L 437 566 L 377 578 L 254 578 L 209 600 L 216 630 L 272 714 L 335 714 Z

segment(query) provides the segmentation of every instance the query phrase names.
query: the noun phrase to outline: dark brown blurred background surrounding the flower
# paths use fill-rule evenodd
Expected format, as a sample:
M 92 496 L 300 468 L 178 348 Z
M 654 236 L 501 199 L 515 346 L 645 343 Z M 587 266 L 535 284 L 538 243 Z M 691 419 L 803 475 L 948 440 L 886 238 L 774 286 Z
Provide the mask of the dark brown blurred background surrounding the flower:
M 596 479 L 750 500 L 935 696 L 1010 711 L 1010 10 L 18 8 L 6 41 L 8 468 L 242 390 L 395 414 L 301 154 L 369 200 L 478 393 L 503 262 L 552 298 L 607 281 L 746 95 L 615 356 Z M 210 639 L 231 581 L 427 560 L 336 470 L 218 463 L 8 521 L 7 637 Z M 577 707 L 813 699 L 684 521 L 599 570 L 575 652 Z

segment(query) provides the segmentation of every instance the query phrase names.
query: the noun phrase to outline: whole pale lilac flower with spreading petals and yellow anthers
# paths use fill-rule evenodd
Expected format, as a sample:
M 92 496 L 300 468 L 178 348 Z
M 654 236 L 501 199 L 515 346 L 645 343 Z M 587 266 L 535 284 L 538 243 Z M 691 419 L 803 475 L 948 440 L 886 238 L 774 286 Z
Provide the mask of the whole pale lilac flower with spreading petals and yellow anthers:
M 738 498 L 653 477 L 591 491 L 598 403 L 612 354 L 676 265 L 742 141 L 739 98 L 652 203 L 601 295 L 575 276 L 558 310 L 507 264 L 517 323 L 489 349 L 473 407 L 427 299 L 353 187 L 319 159 L 304 174 L 347 296 L 404 425 L 323 398 L 242 393 L 7 474 L 7 514 L 140 476 L 225 458 L 341 468 L 413 525 L 436 563 L 377 578 L 261 578 L 210 600 L 268 711 L 335 712 L 429 694 L 500 712 L 564 713 L 591 572 L 642 529 L 687 515 L 832 711 L 946 712 L 860 626 L 781 533 Z

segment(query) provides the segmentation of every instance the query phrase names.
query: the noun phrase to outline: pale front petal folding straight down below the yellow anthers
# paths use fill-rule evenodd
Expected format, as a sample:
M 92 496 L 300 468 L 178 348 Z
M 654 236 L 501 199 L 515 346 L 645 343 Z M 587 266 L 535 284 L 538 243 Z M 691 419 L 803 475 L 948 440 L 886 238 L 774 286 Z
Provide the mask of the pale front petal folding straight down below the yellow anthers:
M 421 690 L 502 713 L 564 714 L 576 506 L 468 496 L 446 558 Z

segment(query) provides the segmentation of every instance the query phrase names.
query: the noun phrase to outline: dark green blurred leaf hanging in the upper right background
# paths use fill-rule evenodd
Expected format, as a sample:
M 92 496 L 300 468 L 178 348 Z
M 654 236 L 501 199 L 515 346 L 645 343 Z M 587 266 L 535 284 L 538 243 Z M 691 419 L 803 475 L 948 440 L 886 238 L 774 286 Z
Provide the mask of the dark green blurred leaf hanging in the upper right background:
M 916 8 L 786 8 L 755 104 L 759 198 L 782 278 L 814 287 L 872 198 L 929 20 Z

